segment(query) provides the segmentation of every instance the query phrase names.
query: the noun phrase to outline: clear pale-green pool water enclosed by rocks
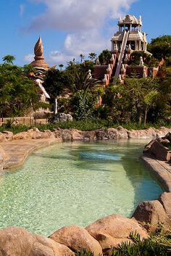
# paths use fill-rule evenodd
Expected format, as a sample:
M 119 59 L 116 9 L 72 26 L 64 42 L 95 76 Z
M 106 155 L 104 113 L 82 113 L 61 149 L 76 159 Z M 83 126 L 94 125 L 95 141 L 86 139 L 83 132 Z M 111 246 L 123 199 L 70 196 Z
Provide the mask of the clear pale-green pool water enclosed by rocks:
M 147 141 L 67 142 L 34 152 L 0 176 L 0 228 L 50 235 L 106 215 L 130 216 L 161 187 L 138 158 Z

